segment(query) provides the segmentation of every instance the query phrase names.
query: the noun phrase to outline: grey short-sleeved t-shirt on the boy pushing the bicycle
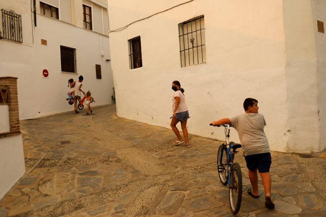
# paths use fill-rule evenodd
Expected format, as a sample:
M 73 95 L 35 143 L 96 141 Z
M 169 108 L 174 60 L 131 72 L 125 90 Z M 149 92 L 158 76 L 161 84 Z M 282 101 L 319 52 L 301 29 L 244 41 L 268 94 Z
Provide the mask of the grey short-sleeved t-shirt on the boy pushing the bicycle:
M 266 122 L 262 114 L 241 114 L 231 118 L 230 121 L 231 126 L 239 134 L 243 155 L 248 156 L 270 152 L 268 140 L 264 133 Z

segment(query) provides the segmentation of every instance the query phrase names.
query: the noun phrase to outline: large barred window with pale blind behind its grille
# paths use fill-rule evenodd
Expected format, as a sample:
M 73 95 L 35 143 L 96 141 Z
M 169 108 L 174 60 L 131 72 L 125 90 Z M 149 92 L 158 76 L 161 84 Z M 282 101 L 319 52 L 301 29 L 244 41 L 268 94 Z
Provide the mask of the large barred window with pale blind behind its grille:
M 204 16 L 179 24 L 181 67 L 206 62 Z

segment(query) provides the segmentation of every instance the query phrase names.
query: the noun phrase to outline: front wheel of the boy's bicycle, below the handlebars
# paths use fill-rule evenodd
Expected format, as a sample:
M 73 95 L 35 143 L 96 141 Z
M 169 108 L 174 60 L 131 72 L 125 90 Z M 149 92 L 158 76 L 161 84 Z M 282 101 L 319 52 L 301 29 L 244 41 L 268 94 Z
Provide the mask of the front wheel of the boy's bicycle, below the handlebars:
M 228 155 L 227 148 L 221 145 L 217 151 L 217 172 L 223 185 L 228 184 Z

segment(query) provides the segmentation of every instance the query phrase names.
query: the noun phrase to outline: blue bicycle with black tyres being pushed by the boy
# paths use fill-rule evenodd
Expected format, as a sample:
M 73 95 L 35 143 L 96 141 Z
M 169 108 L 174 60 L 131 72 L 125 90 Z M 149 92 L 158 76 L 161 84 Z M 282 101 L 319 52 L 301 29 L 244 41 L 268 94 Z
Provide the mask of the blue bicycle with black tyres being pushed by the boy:
M 209 124 L 213 125 L 213 124 Z M 220 126 L 220 125 L 216 125 Z M 239 212 L 242 199 L 242 176 L 238 163 L 233 163 L 236 149 L 241 148 L 241 144 L 229 142 L 230 125 L 223 124 L 225 132 L 225 142 L 217 151 L 217 170 L 223 185 L 228 184 L 229 203 L 231 212 L 235 215 Z

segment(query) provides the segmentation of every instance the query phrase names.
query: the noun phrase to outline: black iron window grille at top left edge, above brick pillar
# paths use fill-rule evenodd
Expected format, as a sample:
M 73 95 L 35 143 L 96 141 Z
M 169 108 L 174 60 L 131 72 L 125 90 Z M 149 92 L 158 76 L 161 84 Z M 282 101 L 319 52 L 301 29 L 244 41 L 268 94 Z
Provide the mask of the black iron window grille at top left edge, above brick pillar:
M 14 11 L 1 9 L 3 38 L 23 43 L 22 17 Z

